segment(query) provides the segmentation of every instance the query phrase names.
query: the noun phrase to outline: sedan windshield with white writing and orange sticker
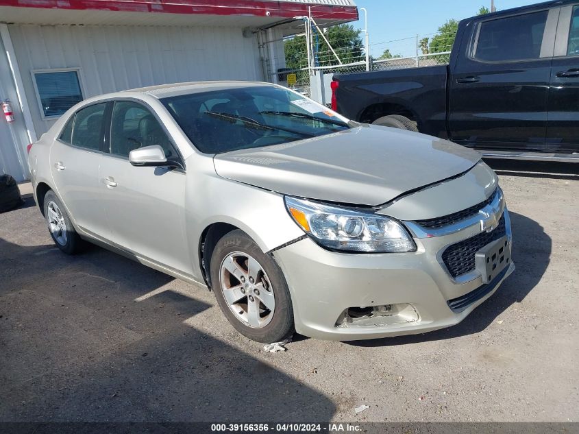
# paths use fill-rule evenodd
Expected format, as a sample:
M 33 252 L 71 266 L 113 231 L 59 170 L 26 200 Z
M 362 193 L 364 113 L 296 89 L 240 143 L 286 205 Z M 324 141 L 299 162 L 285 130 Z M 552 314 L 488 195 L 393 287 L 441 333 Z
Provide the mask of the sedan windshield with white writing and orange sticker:
M 346 130 L 328 108 L 275 86 L 248 86 L 161 99 L 206 154 L 278 145 Z

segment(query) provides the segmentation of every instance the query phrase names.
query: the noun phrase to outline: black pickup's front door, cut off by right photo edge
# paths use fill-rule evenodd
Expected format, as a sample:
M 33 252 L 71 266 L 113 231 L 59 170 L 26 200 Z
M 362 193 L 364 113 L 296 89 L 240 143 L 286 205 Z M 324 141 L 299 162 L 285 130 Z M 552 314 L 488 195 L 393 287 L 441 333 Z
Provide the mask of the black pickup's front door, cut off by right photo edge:
M 549 92 L 547 147 L 579 152 L 579 4 L 561 7 Z

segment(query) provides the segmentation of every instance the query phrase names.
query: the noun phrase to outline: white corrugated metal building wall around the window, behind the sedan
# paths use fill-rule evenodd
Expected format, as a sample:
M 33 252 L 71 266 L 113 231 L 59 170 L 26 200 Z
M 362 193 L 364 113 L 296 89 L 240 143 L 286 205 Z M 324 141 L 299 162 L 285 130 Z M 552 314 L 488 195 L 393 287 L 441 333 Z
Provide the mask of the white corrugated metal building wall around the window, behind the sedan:
M 36 134 L 42 119 L 36 69 L 80 68 L 85 98 L 199 80 L 264 80 L 257 40 L 241 27 L 9 25 Z

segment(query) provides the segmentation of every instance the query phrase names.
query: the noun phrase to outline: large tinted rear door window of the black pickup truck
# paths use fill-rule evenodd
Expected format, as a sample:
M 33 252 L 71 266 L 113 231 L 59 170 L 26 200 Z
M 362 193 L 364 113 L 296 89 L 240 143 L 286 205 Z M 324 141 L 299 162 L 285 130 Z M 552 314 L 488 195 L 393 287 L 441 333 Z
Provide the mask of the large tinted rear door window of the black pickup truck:
M 480 23 L 474 58 L 484 62 L 538 59 L 548 14 L 543 10 Z

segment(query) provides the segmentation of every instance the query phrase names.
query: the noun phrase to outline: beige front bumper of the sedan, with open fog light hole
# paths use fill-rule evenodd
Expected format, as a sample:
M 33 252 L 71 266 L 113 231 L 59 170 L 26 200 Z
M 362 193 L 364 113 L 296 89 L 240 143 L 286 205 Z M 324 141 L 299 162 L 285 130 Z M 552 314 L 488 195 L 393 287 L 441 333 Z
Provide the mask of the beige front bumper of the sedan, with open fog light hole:
M 508 249 L 510 220 L 504 209 Z M 480 231 L 480 230 L 479 230 Z M 273 255 L 291 292 L 297 333 L 317 339 L 374 339 L 425 333 L 458 324 L 493 295 L 514 270 L 510 263 L 500 276 L 484 285 L 479 275 L 457 282 L 439 261 L 447 245 L 476 234 L 476 228 L 443 237 L 415 239 L 417 251 L 389 254 L 345 254 L 325 250 L 309 238 Z M 449 302 L 469 300 L 454 311 Z M 340 322 L 352 307 L 406 306 L 399 320 L 348 325 Z M 393 309 L 393 313 L 397 308 Z M 405 320 L 406 319 L 406 320 Z

